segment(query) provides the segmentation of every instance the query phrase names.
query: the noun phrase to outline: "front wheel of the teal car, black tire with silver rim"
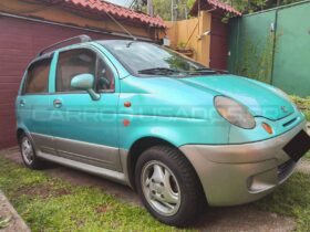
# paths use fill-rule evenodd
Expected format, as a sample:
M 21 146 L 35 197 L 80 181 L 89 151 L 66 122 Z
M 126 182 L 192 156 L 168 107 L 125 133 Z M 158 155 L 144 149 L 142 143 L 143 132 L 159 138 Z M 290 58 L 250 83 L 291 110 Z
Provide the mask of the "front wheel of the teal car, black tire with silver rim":
M 151 214 L 169 225 L 192 224 L 206 205 L 204 190 L 193 166 L 170 146 L 155 146 L 140 156 L 135 183 Z

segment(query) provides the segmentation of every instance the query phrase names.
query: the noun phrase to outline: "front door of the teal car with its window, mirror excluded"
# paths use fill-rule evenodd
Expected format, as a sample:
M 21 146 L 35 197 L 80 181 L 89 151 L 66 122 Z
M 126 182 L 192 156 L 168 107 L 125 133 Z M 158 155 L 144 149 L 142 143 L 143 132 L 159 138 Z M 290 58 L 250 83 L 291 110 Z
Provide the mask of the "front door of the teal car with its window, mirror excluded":
M 71 80 L 94 75 L 94 89 L 101 95 L 93 101 L 86 92 L 71 87 Z M 116 128 L 117 72 L 107 59 L 90 48 L 58 53 L 55 94 L 51 98 L 51 130 L 58 155 L 75 161 L 121 170 Z

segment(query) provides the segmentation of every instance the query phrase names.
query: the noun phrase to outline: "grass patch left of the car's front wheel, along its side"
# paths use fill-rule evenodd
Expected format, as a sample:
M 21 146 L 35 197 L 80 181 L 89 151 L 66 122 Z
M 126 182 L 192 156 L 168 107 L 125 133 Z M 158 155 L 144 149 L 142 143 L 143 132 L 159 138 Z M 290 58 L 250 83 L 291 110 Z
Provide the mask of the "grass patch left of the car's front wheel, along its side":
M 178 231 L 100 189 L 76 187 L 0 157 L 0 189 L 32 231 Z

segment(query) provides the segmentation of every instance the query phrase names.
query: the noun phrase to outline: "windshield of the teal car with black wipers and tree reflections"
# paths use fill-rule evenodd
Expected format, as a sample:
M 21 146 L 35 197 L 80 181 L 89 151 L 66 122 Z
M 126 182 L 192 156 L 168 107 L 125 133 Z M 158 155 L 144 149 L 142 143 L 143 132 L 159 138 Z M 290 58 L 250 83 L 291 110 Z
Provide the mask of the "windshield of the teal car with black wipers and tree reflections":
M 206 75 L 215 71 L 169 49 L 137 41 L 102 42 L 135 75 Z

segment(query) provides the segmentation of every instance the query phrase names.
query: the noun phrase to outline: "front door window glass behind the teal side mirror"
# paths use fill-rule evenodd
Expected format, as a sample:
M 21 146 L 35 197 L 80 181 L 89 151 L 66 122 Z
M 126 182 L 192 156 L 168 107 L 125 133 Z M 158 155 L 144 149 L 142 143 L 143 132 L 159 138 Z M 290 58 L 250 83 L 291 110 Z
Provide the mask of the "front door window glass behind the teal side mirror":
M 90 50 L 79 49 L 59 54 L 56 71 L 56 92 L 74 92 L 71 80 L 79 74 L 93 74 L 95 76 L 96 54 Z

